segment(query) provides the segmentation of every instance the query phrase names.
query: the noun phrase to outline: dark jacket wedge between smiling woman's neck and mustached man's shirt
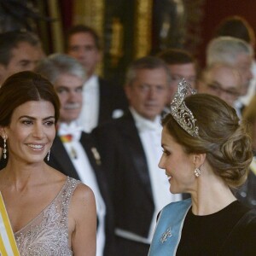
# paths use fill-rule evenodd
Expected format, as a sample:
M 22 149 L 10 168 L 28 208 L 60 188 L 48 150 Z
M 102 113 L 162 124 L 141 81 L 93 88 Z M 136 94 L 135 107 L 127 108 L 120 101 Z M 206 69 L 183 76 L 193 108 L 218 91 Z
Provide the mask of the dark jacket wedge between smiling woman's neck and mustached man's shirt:
M 49 165 L 60 169 L 61 172 L 69 177 L 79 179 L 79 175 L 61 142 L 61 138 L 58 136 L 55 137 L 54 143 L 50 149 Z

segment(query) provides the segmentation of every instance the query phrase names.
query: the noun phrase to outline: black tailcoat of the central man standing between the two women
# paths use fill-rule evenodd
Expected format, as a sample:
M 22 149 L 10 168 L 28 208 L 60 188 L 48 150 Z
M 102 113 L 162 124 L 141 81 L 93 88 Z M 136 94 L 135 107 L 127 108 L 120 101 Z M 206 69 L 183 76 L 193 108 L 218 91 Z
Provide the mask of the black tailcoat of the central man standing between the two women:
M 148 165 L 131 113 L 93 131 L 115 211 L 116 228 L 147 237 L 154 213 Z

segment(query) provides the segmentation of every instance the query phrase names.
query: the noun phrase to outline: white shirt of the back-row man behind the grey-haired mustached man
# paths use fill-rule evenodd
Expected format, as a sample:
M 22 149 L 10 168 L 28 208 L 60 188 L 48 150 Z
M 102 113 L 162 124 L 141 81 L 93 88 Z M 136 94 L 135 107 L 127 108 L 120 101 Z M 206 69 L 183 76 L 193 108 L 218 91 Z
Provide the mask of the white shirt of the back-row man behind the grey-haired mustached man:
M 79 125 L 85 132 L 90 133 L 98 125 L 100 106 L 100 84 L 96 75 L 84 83 L 83 107 L 79 115 Z

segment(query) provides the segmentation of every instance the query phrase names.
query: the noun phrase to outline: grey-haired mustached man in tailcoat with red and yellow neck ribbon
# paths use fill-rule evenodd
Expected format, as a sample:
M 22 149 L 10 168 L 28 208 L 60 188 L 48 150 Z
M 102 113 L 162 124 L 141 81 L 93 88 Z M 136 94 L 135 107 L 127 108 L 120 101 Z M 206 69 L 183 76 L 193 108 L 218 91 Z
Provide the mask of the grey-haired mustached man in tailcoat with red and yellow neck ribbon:
M 84 68 L 68 55 L 55 54 L 41 61 L 36 72 L 54 84 L 61 102 L 57 136 L 46 162 L 93 190 L 97 213 L 96 256 L 113 256 L 113 211 L 101 156 L 92 137 L 76 121 L 83 102 Z

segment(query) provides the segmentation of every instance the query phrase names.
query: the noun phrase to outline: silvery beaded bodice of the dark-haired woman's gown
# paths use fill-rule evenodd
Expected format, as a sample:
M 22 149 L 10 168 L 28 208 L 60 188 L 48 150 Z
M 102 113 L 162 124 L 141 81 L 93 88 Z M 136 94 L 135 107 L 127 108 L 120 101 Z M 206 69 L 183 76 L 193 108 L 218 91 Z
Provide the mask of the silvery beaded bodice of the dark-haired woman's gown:
M 68 245 L 68 207 L 80 182 L 67 177 L 59 194 L 36 218 L 15 233 L 20 256 L 73 255 Z

